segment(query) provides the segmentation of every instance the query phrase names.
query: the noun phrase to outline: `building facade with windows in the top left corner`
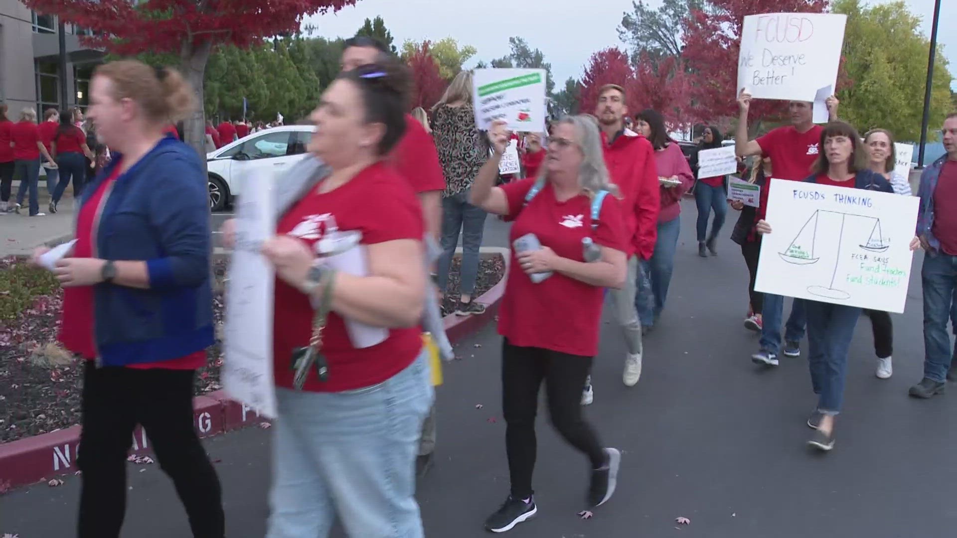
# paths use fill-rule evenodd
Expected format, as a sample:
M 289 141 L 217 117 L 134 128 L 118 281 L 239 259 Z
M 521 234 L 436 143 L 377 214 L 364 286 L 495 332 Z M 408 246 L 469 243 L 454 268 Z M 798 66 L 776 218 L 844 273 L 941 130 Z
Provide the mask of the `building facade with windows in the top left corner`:
M 84 30 L 68 24 L 65 31 L 66 73 L 60 73 L 56 16 L 32 11 L 19 0 L 0 0 L 0 102 L 9 105 L 11 120 L 27 106 L 39 118 L 47 108 L 59 109 L 61 84 L 67 106 L 86 107 L 90 77 L 104 55 L 80 43 Z

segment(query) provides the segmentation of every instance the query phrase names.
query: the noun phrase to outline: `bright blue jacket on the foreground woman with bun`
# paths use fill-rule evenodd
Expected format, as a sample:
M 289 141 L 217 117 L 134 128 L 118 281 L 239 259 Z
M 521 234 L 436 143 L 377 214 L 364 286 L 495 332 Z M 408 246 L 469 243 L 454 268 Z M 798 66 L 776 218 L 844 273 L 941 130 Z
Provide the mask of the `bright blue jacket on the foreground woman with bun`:
M 120 160 L 116 155 L 84 189 L 84 205 Z M 93 228 L 94 257 L 145 261 L 149 274 L 149 289 L 94 287 L 103 366 L 177 359 L 213 344 L 208 196 L 199 156 L 172 136 L 103 195 Z

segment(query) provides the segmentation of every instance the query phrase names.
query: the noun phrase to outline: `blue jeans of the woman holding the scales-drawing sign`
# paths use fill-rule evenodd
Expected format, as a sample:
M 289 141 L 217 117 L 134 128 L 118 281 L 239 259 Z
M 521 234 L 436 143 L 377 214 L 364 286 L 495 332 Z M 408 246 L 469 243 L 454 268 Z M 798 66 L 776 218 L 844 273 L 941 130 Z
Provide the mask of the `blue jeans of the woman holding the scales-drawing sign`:
M 817 411 L 837 415 L 844 403 L 847 353 L 860 308 L 804 301 L 808 312 L 808 366 L 811 386 L 818 395 Z

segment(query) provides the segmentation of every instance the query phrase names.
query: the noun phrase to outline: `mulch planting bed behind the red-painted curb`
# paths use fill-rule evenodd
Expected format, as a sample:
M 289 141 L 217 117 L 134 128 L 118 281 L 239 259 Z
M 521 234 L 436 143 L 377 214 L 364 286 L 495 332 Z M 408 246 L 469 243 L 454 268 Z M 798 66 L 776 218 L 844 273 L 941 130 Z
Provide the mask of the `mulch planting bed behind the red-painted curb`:
M 0 280 L 5 272 L 22 262 L 22 258 L 0 260 Z M 458 300 L 458 266 L 459 260 L 456 258 L 449 279 L 449 288 L 455 291 L 446 300 L 446 307 L 450 308 L 454 308 L 454 302 Z M 214 273 L 216 280 L 221 283 L 226 274 L 226 262 L 217 262 Z M 503 273 L 501 257 L 482 259 L 476 296 L 488 291 Z M 36 277 L 42 278 L 42 275 Z M 221 286 L 217 287 L 221 289 Z M 79 422 L 83 368 L 78 361 L 64 356 L 62 349 L 48 346 L 56 342 L 63 294 L 56 286 L 45 291 L 48 293 L 34 294 L 30 306 L 12 320 L 0 318 L 0 443 L 53 432 Z M 0 288 L 0 302 L 8 297 Z M 217 326 L 223 321 L 223 309 L 223 294 L 216 291 L 213 296 L 213 316 Z M 207 366 L 197 371 L 197 395 L 221 389 L 220 336 L 217 334 L 216 343 L 207 349 Z

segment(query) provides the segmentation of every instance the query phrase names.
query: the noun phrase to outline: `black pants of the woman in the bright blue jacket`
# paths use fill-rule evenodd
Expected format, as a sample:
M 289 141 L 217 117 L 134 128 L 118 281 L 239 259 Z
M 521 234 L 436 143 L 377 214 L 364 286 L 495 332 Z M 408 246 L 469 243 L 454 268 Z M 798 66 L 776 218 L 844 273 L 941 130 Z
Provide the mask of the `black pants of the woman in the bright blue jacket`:
M 193 370 L 97 369 L 83 377 L 78 538 L 119 538 L 126 511 L 126 455 L 142 424 L 160 468 L 186 507 L 195 538 L 223 538 L 222 491 L 196 436 Z M 171 514 L 165 514 L 171 516 Z

